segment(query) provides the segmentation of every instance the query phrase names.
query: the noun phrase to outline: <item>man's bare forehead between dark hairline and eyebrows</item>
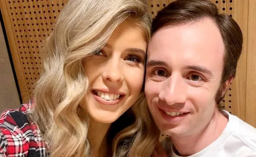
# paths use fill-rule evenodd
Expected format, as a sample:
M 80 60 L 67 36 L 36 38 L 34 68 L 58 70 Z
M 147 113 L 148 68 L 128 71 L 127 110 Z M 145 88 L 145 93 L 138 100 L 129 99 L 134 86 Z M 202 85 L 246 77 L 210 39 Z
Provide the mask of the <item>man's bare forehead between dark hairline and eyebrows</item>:
M 222 68 L 224 54 L 218 26 L 211 19 L 202 19 L 159 29 L 148 46 L 147 63 L 157 60 L 169 67 L 178 65 L 182 69 L 207 67 L 213 70 Z

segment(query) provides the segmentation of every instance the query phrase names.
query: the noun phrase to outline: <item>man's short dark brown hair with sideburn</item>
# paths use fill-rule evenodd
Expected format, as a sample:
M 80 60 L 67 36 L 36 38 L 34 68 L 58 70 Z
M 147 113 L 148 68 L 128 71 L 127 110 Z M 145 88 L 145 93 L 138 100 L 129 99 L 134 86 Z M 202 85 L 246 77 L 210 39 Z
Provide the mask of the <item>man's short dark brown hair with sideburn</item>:
M 155 33 L 165 26 L 186 24 L 205 17 L 216 23 L 225 45 L 222 79 L 215 96 L 215 101 L 219 105 L 225 96 L 225 82 L 235 77 L 237 62 L 242 52 L 243 36 L 237 22 L 227 14 L 219 14 L 218 7 L 208 0 L 177 0 L 157 13 L 152 28 Z

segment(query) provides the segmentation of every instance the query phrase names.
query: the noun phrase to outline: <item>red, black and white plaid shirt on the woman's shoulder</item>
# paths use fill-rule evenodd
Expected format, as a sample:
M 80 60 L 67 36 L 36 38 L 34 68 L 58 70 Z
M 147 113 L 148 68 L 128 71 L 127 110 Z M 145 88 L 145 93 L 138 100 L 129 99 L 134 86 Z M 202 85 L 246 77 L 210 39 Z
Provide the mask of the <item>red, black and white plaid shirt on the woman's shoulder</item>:
M 30 101 L 1 115 L 0 157 L 49 157 L 40 131 L 35 123 L 28 120 L 27 114 L 32 106 Z

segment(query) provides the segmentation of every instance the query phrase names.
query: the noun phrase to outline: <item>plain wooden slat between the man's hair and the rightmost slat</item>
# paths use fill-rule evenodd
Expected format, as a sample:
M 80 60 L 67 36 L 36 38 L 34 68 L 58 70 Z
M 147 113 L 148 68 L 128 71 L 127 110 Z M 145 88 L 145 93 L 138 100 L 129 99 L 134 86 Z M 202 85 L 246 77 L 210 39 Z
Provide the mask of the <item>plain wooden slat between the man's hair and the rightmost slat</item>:
M 237 74 L 231 85 L 232 90 L 230 93 L 226 93 L 226 97 L 231 95 L 231 113 L 245 121 L 248 0 L 233 0 L 232 3 L 233 18 L 242 30 L 244 41 L 242 54 L 237 65 Z

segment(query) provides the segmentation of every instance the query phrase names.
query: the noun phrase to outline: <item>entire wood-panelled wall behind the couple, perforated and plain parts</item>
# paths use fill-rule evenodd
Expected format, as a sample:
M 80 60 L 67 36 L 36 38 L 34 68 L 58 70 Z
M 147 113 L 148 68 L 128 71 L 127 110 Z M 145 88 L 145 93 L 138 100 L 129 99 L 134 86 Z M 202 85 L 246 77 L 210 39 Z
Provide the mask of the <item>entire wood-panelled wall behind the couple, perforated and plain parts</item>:
M 7 32 L 12 59 L 21 90 L 26 102 L 33 92 L 35 82 L 40 76 L 41 54 L 40 42 L 52 31 L 52 27 L 61 9 L 68 0 L 1 0 L 0 7 Z M 157 11 L 174 0 L 148 0 L 149 10 L 153 16 Z M 237 67 L 237 76 L 222 104 L 226 110 L 237 115 L 249 124 L 256 126 L 256 77 L 255 36 L 256 25 L 255 0 L 211 0 L 220 12 L 232 16 L 241 27 L 244 35 L 243 52 Z M 249 4 L 250 2 L 250 5 Z M 250 9 L 250 12 L 248 11 Z M 251 16 L 248 15 L 248 12 Z M 248 29 L 248 16 L 250 27 Z M 249 31 L 249 33 L 247 33 Z M 247 35 L 249 41 L 247 42 Z M 247 51 L 248 46 L 248 51 Z M 247 56 L 248 54 L 248 56 Z M 247 58 L 249 62 L 247 63 Z M 247 76 L 247 79 L 246 79 Z M 247 95 L 248 94 L 248 95 Z M 253 118 L 251 118 L 253 116 Z M 246 117 L 246 118 L 245 118 Z

